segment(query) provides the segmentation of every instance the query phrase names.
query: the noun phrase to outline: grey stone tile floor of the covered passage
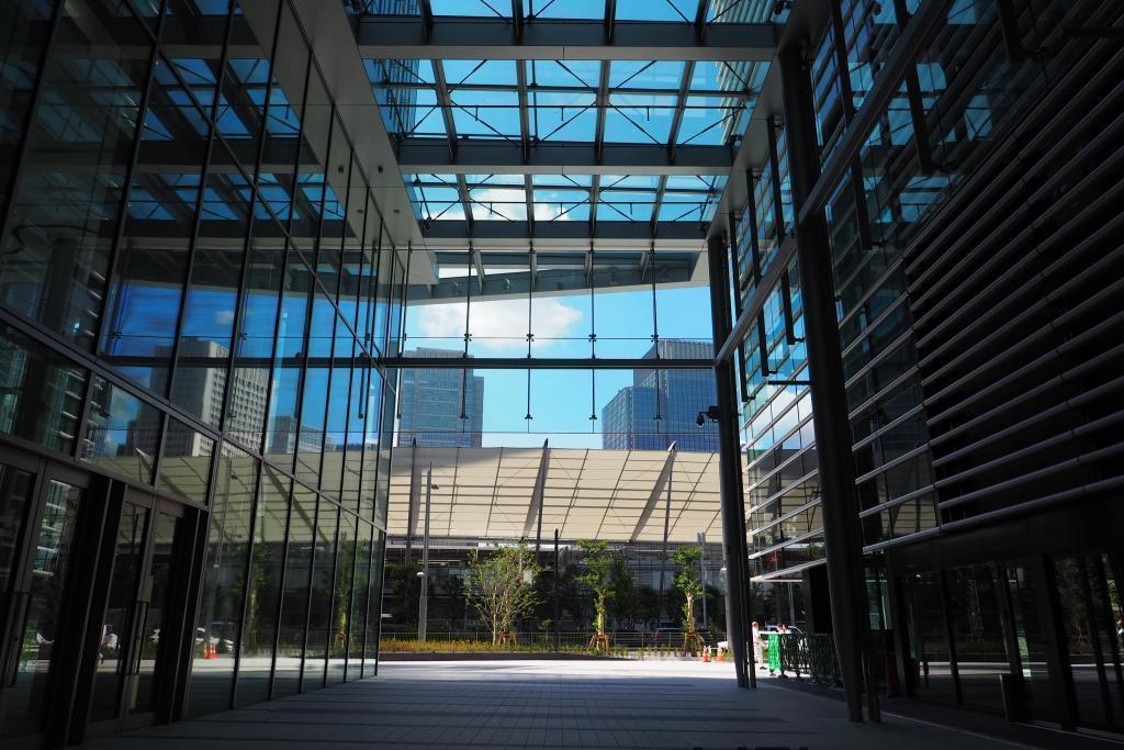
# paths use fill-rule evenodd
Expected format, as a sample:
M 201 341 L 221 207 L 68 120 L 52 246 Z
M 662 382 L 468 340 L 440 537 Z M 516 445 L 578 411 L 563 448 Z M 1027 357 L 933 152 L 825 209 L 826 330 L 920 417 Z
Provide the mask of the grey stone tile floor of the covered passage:
M 383 662 L 379 677 L 91 740 L 121 750 L 256 748 L 1024 747 L 887 717 L 851 724 L 839 701 L 686 661 Z

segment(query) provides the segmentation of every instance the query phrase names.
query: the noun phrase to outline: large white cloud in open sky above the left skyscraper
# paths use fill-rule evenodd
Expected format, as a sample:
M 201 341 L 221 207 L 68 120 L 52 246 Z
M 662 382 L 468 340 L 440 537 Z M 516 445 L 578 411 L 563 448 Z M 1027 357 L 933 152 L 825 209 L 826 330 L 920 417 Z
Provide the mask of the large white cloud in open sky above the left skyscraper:
M 460 338 L 464 335 L 464 305 L 424 305 L 411 307 L 411 327 L 422 336 Z M 533 302 L 535 350 L 546 349 L 546 338 L 580 335 L 578 324 L 584 314 L 556 299 L 536 299 Z M 527 351 L 527 301 L 504 299 L 472 302 L 471 325 L 473 344 L 490 353 L 519 353 Z M 419 346 L 443 346 L 438 342 L 417 342 Z

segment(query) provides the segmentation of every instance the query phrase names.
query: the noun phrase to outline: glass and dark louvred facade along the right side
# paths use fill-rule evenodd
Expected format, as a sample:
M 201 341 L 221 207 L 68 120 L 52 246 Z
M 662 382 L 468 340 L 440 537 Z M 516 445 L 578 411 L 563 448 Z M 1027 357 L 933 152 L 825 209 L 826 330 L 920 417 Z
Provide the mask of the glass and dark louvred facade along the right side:
M 1091 280 L 1094 271 L 1078 279 L 1075 269 L 1118 263 L 1115 245 L 1098 244 L 1116 220 L 1098 201 L 1116 195 L 1120 181 L 1098 171 L 1098 154 L 1107 159 L 1109 152 L 1096 151 L 1102 142 L 1095 135 L 1120 103 L 1102 79 L 1080 82 L 1093 72 L 1112 79 L 1116 71 L 1107 51 L 1058 29 L 1118 25 L 1118 12 L 1096 2 L 943 3 L 914 64 L 887 81 L 881 76 L 892 69 L 887 63 L 904 30 L 933 6 L 828 6 L 810 66 L 821 164 L 831 164 L 847 136 L 861 145 L 813 208 L 823 208 L 828 229 L 858 513 L 868 570 L 874 569 L 869 577 L 886 580 L 877 570 L 883 559 L 897 567 L 890 580 L 896 612 L 876 614 L 904 621 L 895 624 L 905 633 L 897 645 L 907 651 L 908 689 L 919 696 L 1023 712 L 1070 729 L 1118 731 L 1118 551 L 1097 552 L 1103 542 L 1085 539 L 1091 526 L 1066 525 L 1063 516 L 1081 517 L 1082 507 L 1059 505 L 1052 515 L 1044 505 L 1030 508 L 1032 499 L 1080 497 L 1093 525 L 1111 525 L 1115 513 L 1116 496 L 1086 494 L 1086 487 L 1105 482 L 1105 493 L 1115 491 L 1115 485 L 1108 489 L 1115 470 L 1096 463 L 1098 450 L 1117 450 L 1102 448 L 1115 437 L 1098 432 L 1118 418 L 1115 404 L 1099 400 L 1116 392 L 1115 374 L 1100 369 L 1113 367 L 1115 342 L 1094 336 L 1120 307 L 1096 307 L 1111 292 Z M 874 106 L 876 90 L 888 94 L 886 103 L 877 105 L 872 120 L 860 120 L 856 112 Z M 1059 121 L 1057 107 L 1042 103 L 1061 107 L 1069 98 L 1089 102 L 1077 107 L 1079 123 Z M 852 133 L 858 121 L 871 125 Z M 759 289 L 790 240 L 779 125 L 769 123 L 763 162 L 731 178 L 747 180 L 750 196 L 731 238 L 736 311 L 764 296 L 738 358 L 750 551 L 759 582 L 795 578 L 823 557 L 799 264 L 790 261 L 773 286 Z M 1019 127 L 1039 146 L 1027 151 L 1017 139 Z M 1003 153 L 1015 151 L 1034 159 L 1008 175 L 1012 182 L 1037 186 L 1032 170 L 1066 170 L 1075 175 L 1071 184 L 1026 214 L 1008 215 L 997 200 L 1021 207 L 1027 198 L 992 178 L 1009 164 Z M 1105 181 L 1085 180 L 1093 172 Z M 1081 211 L 1070 217 L 1073 206 Z M 1027 233 L 1026 222 L 1048 209 L 1064 220 L 1042 237 Z M 1007 216 L 1009 226 L 997 233 L 986 211 Z M 966 244 L 951 244 L 950 235 Z M 953 250 L 968 246 L 970 255 Z M 1039 301 L 1043 296 L 1058 301 L 1048 306 Z M 1079 307 L 1069 317 L 1059 311 Z M 1032 317 L 1039 314 L 1041 320 Z M 1042 349 L 1032 347 L 1036 332 L 1053 331 L 1057 340 L 1043 335 Z M 1073 354 L 1052 370 L 1055 346 Z M 1060 373 L 1070 371 L 1088 373 L 1072 394 L 1040 388 L 1068 381 Z M 1070 434 L 1086 442 L 1067 442 Z M 1032 458 L 1019 463 L 1014 459 L 1021 454 Z M 1006 517 L 1018 504 L 1041 530 L 1024 536 L 1023 526 Z M 1059 527 L 1048 528 L 1054 518 Z M 963 537 L 942 546 L 945 534 L 961 533 L 989 534 L 981 536 L 989 542 L 963 554 L 953 552 L 969 546 Z M 918 544 L 923 540 L 933 541 Z M 1000 677 L 1010 680 L 1003 689 Z

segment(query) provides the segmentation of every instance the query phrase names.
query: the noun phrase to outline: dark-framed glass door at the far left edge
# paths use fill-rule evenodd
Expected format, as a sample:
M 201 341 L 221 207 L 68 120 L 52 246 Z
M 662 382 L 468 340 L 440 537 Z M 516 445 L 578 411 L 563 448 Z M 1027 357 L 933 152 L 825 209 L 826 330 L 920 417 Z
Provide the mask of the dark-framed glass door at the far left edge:
M 58 707 L 55 674 L 74 644 L 67 596 L 84 475 L 0 453 L 0 746 L 37 744 Z M 67 635 L 70 633 L 70 635 Z

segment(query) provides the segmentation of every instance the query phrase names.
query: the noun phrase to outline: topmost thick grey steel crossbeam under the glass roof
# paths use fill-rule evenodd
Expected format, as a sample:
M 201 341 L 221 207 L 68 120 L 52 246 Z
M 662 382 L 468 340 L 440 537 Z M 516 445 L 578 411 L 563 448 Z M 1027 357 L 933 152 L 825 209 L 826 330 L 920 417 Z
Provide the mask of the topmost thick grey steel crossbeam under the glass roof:
M 547 19 L 516 26 L 506 18 L 365 16 L 356 38 L 373 60 L 670 60 L 769 61 L 774 24 Z

